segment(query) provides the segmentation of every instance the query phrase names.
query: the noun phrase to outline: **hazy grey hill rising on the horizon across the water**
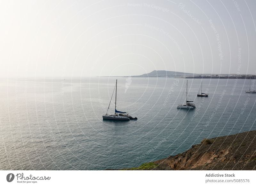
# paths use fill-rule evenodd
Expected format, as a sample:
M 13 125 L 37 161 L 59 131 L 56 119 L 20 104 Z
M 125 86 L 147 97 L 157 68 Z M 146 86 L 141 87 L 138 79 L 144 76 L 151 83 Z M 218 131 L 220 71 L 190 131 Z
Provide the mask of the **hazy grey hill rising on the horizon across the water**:
M 166 70 L 154 70 L 148 74 L 135 75 L 132 77 L 186 77 L 193 76 L 195 74 L 184 73 L 184 72 L 175 72 L 175 71 L 166 71 Z

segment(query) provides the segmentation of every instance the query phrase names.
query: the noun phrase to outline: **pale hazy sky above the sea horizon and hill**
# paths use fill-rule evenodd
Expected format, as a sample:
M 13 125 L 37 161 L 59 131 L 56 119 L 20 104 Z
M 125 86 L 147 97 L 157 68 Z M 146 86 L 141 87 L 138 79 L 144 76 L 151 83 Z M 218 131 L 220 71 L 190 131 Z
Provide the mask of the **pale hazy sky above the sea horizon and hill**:
M 256 74 L 256 1 L 1 1 L 0 76 Z

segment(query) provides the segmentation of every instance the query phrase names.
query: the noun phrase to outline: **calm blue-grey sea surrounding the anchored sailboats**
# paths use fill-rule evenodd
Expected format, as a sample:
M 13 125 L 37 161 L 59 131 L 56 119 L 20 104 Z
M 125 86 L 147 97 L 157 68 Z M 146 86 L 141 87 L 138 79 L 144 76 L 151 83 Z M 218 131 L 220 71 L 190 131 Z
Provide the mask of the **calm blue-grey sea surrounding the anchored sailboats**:
M 1 170 L 103 170 L 139 166 L 204 138 L 256 130 L 249 80 L 117 78 L 117 110 L 136 121 L 103 121 L 116 78 L 0 79 Z M 252 81 L 252 86 L 254 86 Z M 183 96 L 182 96 L 183 95 Z M 113 98 L 115 97 L 115 94 Z M 114 99 L 108 113 L 115 109 Z

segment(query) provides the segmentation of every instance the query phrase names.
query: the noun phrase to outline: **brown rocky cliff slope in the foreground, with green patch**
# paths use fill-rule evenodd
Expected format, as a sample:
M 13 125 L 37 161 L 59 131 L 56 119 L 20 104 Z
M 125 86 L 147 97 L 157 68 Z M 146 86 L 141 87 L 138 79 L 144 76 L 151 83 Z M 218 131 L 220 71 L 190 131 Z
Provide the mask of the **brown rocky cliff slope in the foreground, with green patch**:
M 256 130 L 205 139 L 176 156 L 126 170 L 256 170 Z

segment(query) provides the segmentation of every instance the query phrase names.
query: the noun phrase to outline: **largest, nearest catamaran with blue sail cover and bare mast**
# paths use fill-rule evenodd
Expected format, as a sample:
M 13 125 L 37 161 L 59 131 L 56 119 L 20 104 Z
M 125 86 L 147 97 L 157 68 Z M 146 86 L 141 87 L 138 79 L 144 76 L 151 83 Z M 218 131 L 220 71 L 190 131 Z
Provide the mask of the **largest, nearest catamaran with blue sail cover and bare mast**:
M 112 93 L 112 96 L 111 96 L 111 99 L 110 99 L 110 102 L 109 102 L 109 105 L 108 105 L 108 109 L 109 109 L 109 106 L 110 106 L 110 103 L 111 103 L 111 100 L 112 100 L 115 89 L 116 89 L 116 92 L 117 92 L 117 80 L 116 80 L 116 85 L 115 85 L 115 88 L 113 90 L 113 93 Z M 116 101 L 115 101 L 115 114 L 109 115 L 108 110 L 107 110 L 107 113 L 105 115 L 103 115 L 102 118 L 103 118 L 103 120 L 137 120 L 137 117 L 133 118 L 132 116 L 130 116 L 126 112 L 117 111 L 116 110 Z

